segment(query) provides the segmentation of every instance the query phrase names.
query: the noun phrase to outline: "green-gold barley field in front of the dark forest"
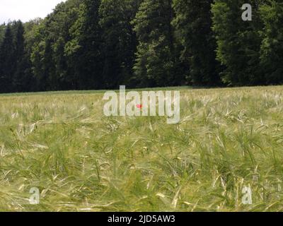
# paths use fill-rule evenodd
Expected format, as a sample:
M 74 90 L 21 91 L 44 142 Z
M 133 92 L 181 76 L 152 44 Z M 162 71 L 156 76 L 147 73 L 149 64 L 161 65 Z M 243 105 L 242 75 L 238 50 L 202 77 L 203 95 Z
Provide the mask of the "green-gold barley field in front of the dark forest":
M 180 88 L 173 125 L 103 94 L 0 95 L 1 211 L 283 210 L 283 87 Z

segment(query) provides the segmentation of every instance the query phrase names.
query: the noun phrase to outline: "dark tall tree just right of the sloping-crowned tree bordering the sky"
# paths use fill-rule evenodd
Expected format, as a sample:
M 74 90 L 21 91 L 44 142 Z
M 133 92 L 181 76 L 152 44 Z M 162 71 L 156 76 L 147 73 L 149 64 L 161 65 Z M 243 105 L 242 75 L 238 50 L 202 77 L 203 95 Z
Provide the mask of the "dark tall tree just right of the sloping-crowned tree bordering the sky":
M 103 88 L 103 38 L 99 25 L 100 0 L 83 0 L 79 18 L 71 28 L 65 52 L 74 71 L 76 88 Z

